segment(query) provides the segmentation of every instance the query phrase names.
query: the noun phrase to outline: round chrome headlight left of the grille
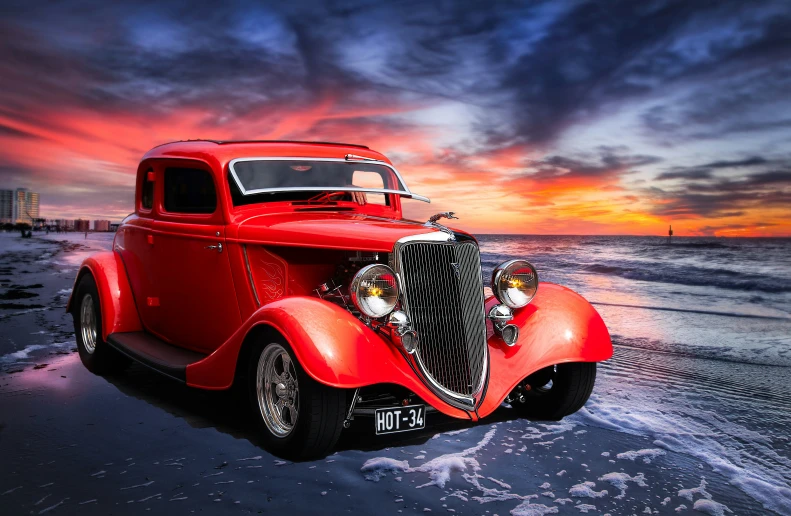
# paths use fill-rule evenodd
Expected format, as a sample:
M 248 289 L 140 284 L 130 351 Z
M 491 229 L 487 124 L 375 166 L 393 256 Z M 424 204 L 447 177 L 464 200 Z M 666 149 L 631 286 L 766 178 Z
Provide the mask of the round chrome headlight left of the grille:
M 398 302 L 398 281 L 387 265 L 373 264 L 357 271 L 349 291 L 354 306 L 374 319 L 392 312 Z

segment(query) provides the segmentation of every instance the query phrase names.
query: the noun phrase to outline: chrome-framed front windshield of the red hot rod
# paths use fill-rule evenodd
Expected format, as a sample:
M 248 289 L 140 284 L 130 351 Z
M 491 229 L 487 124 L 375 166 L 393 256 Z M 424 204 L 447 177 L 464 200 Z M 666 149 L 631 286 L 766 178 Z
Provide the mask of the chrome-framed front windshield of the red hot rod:
M 283 192 L 394 193 L 428 201 L 409 191 L 392 167 L 339 159 L 241 158 L 230 173 L 242 195 Z

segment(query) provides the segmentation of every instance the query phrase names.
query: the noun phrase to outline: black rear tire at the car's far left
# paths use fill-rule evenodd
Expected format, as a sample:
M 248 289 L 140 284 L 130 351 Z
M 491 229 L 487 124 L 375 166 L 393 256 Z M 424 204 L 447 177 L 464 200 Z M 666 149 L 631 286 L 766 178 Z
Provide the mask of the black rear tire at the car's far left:
M 131 360 L 114 350 L 102 339 L 102 307 L 99 302 L 96 281 L 90 273 L 80 278 L 74 290 L 72 303 L 71 315 L 74 319 L 74 335 L 83 365 L 90 372 L 98 375 L 118 373 L 126 369 Z M 83 304 L 86 305 L 86 310 L 93 314 L 92 324 L 83 324 Z M 86 332 L 83 332 L 83 329 Z

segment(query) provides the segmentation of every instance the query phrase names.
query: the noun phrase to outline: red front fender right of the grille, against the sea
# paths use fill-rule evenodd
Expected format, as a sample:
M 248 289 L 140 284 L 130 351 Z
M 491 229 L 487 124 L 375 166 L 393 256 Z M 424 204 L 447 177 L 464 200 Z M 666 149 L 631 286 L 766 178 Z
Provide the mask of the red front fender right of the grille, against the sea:
M 486 310 L 497 304 L 486 301 Z M 514 314 L 519 339 L 508 347 L 496 335 L 489 339 L 489 389 L 478 414 L 494 412 L 525 377 L 565 362 L 600 362 L 612 357 L 610 333 L 599 313 L 576 292 L 541 283 L 533 301 Z

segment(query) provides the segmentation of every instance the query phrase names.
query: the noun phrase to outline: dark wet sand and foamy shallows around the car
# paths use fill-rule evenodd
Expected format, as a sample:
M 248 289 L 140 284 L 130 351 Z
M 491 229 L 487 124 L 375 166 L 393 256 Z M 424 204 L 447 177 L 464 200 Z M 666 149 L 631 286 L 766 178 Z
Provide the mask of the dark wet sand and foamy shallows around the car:
M 791 514 L 791 368 L 617 337 L 590 402 L 560 423 L 504 405 L 377 438 L 360 419 L 333 455 L 283 461 L 233 392 L 82 367 L 64 305 L 110 238 L 0 234 L 3 514 Z M 759 323 L 787 335 L 772 317 Z

